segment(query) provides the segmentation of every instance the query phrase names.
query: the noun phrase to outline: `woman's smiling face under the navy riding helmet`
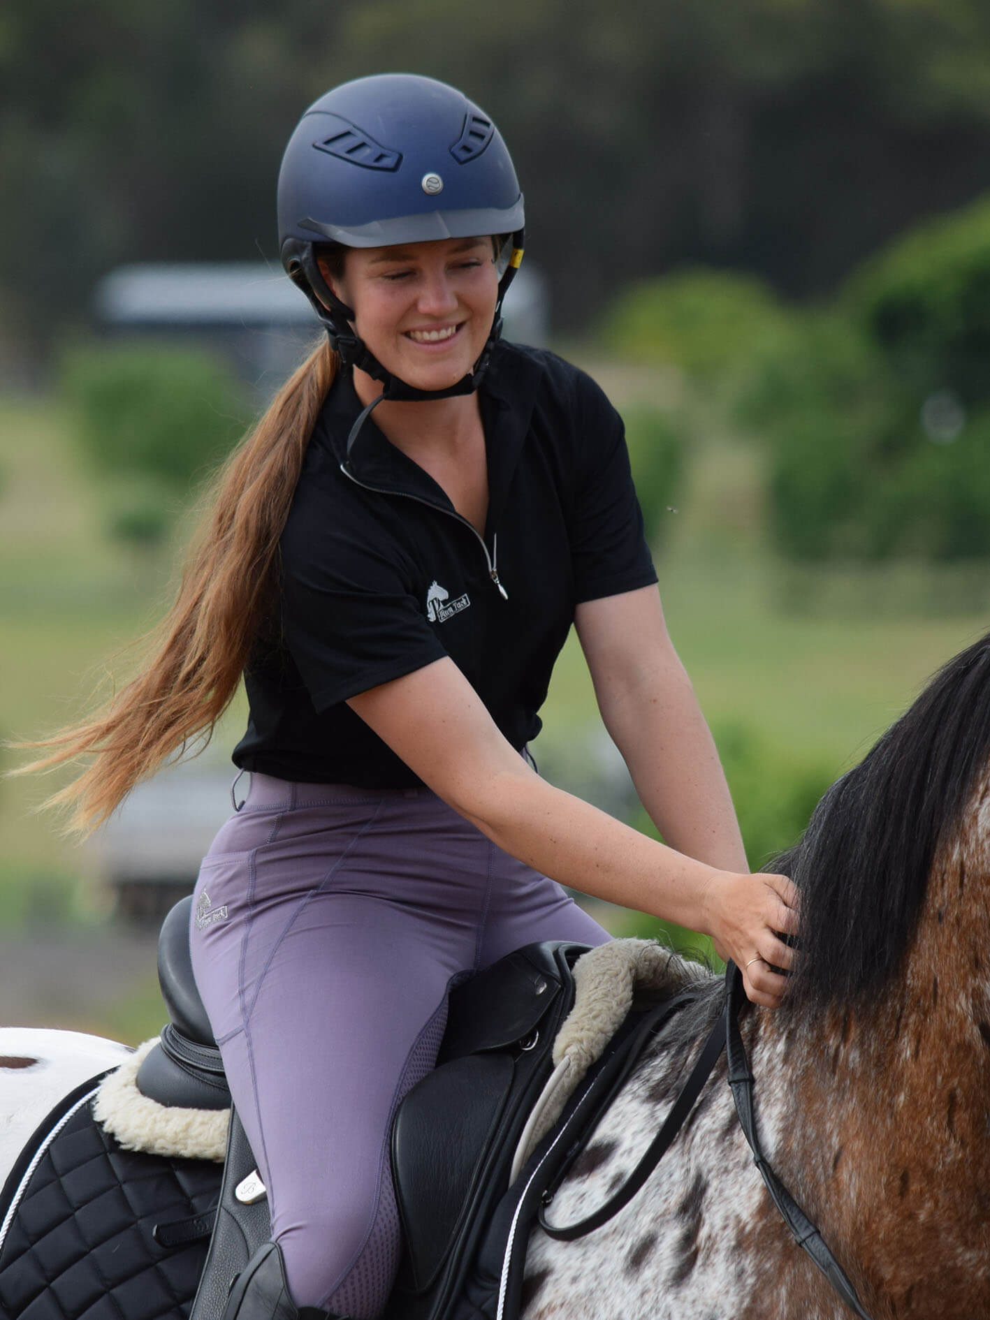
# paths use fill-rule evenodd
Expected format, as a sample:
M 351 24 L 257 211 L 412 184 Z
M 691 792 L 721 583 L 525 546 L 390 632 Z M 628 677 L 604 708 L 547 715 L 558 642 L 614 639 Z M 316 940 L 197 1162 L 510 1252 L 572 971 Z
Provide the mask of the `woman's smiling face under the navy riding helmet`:
M 490 238 L 348 248 L 337 296 L 383 367 L 417 389 L 446 389 L 471 371 L 491 331 L 499 277 Z

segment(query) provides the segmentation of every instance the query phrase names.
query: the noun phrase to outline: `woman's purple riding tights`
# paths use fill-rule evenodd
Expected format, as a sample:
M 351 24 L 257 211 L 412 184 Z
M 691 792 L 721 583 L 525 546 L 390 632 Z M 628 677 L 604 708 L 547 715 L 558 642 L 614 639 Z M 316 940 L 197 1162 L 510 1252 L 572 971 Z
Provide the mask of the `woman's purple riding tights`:
M 607 939 L 425 788 L 252 776 L 199 871 L 193 969 L 297 1305 L 384 1307 L 391 1118 L 436 1061 L 451 978 Z

